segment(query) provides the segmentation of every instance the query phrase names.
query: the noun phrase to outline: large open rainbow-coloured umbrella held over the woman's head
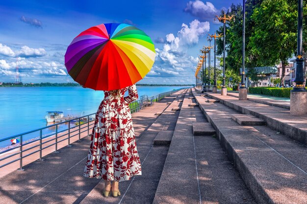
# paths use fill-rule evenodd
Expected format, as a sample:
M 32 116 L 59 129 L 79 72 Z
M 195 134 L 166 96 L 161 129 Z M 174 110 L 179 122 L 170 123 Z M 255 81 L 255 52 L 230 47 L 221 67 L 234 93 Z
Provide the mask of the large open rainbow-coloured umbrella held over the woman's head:
M 73 40 L 65 54 L 65 66 L 80 85 L 110 91 L 141 80 L 154 58 L 153 42 L 143 31 L 124 23 L 105 23 Z

